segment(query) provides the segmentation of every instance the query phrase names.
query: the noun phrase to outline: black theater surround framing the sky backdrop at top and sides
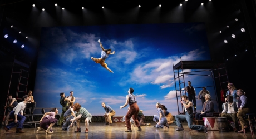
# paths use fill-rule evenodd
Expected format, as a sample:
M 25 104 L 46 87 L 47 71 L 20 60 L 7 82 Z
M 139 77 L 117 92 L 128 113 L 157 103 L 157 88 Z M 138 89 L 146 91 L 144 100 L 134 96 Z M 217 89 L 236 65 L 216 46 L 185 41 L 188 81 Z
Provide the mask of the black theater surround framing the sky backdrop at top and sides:
M 54 6 L 55 3 L 58 4 L 57 7 Z M 183 3 L 183 6 L 179 6 L 180 3 Z M 201 6 L 201 3 L 204 3 L 204 6 Z M 36 7 L 32 7 L 32 4 Z M 139 4 L 141 7 L 138 7 Z M 159 4 L 162 7 L 159 7 Z M 102 6 L 105 8 L 102 9 Z M 62 7 L 65 7 L 65 11 L 62 11 Z M 82 10 L 81 7 L 85 9 Z M 45 8 L 45 11 L 42 11 L 42 8 Z M 256 77 L 256 29 L 253 26 L 256 24 L 255 15 L 253 0 L 189 0 L 187 2 L 4 0 L 0 2 L 1 95 L 7 96 L 14 57 L 31 64 L 28 90 L 33 90 L 41 27 L 204 22 L 211 58 L 224 62 L 229 82 L 243 89 L 247 92 L 248 98 L 253 100 Z M 234 21 L 235 18 L 238 18 L 238 22 Z M 15 28 L 11 29 L 12 24 Z M 230 27 L 227 28 L 227 25 Z M 245 28 L 244 33 L 240 32 L 241 27 Z M 29 37 L 19 39 L 24 42 L 25 48 L 17 47 L 3 37 L 7 32 L 15 36 L 17 33 L 14 32 L 18 31 L 22 31 L 23 36 Z M 231 38 L 233 33 L 237 38 Z M 224 39 L 228 40 L 227 44 L 223 42 Z M 227 85 L 224 86 L 224 89 L 227 89 Z M 219 85 L 216 85 L 216 90 L 220 90 Z M 6 97 L 1 97 L 0 105 L 4 106 L 5 103 Z M 255 108 L 252 109 L 255 112 Z

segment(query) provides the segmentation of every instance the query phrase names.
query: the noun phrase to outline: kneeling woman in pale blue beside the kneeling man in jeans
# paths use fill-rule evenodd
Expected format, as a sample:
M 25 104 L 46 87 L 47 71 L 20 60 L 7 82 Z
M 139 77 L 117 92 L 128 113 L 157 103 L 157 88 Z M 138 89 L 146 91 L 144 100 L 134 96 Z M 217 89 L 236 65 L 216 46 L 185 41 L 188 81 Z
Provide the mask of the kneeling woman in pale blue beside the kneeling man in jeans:
M 156 122 L 155 127 L 156 128 L 164 128 L 164 126 L 166 126 L 167 128 L 169 128 L 167 119 L 166 119 L 164 111 L 163 111 L 163 106 L 159 102 L 157 102 L 156 108 L 157 108 L 158 115 L 154 115 L 154 118 L 153 118 L 153 121 Z

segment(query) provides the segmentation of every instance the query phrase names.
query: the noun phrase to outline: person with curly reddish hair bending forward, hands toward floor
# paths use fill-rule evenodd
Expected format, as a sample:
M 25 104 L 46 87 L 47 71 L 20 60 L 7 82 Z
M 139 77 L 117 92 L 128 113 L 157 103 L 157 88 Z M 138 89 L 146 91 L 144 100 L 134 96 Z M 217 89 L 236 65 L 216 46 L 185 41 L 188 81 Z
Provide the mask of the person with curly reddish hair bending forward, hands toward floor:
M 81 107 L 79 103 L 75 103 L 74 111 L 76 111 L 76 118 L 70 121 L 75 121 L 77 123 L 77 130 L 75 132 L 81 132 L 80 121 L 85 121 L 85 133 L 88 133 L 89 122 L 92 122 L 92 115 L 85 108 Z

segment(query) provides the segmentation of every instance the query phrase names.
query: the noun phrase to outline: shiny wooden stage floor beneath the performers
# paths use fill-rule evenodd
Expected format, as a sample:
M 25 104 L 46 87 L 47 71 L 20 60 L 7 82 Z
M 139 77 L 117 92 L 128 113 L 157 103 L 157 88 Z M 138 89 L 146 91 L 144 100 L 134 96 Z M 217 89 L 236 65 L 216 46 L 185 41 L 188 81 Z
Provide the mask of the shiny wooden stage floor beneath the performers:
M 104 126 L 102 122 L 90 123 L 89 133 L 85 132 L 85 123 L 82 123 L 81 133 L 75 133 L 76 127 L 70 128 L 70 131 L 62 131 L 60 127 L 53 127 L 53 134 L 46 135 L 40 131 L 36 133 L 37 128 L 24 128 L 25 133 L 16 134 L 16 128 L 12 128 L 10 132 L 6 132 L 3 128 L 0 129 L 0 138 L 15 138 L 15 139 L 38 139 L 38 138 L 253 138 L 250 132 L 219 132 L 208 131 L 208 133 L 189 131 L 186 122 L 183 122 L 184 131 L 175 131 L 176 126 L 170 125 L 170 128 L 156 129 L 154 123 L 151 126 L 141 126 L 142 131 L 137 131 L 137 127 L 132 127 L 132 132 L 124 132 L 126 127 L 124 123 L 114 123 L 113 126 Z M 255 134 L 254 134 L 255 138 Z

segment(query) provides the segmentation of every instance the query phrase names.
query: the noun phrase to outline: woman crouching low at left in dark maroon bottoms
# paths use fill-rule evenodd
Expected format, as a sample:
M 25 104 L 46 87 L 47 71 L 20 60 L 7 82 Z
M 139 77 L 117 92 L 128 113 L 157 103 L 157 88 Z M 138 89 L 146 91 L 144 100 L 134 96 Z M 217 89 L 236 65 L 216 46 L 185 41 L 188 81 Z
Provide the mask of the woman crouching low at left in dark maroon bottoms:
M 46 130 L 46 134 L 47 133 L 53 133 L 52 126 L 54 126 L 55 123 L 58 121 L 55 118 L 55 115 L 57 113 L 58 113 L 57 108 L 52 108 L 52 110 L 50 112 L 46 112 L 45 115 L 43 115 L 43 117 L 39 121 L 40 127 L 38 127 L 38 130 L 36 132 L 38 133 L 39 131 L 45 131 Z

